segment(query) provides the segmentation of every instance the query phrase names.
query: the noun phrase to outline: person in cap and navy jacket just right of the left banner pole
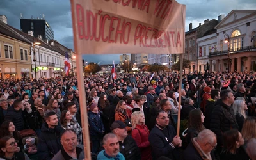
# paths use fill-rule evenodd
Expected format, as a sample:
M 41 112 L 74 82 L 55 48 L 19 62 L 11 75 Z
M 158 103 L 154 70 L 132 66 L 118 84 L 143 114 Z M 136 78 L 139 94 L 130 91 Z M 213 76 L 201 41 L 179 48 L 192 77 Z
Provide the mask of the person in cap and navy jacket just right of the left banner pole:
M 92 141 L 92 152 L 97 153 L 100 147 L 100 140 L 102 140 L 105 128 L 103 122 L 98 115 L 98 104 L 93 103 L 90 106 L 88 113 L 88 122 L 90 125 L 90 140 Z

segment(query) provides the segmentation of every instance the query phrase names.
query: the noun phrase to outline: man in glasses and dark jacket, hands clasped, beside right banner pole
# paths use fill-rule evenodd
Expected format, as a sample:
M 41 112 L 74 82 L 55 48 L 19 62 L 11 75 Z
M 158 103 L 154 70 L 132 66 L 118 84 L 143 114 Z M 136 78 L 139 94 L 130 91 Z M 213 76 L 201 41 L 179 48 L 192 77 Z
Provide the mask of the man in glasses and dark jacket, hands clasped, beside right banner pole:
M 149 142 L 152 146 L 153 159 L 161 156 L 177 159 L 178 147 L 182 140 L 176 135 L 175 129 L 169 125 L 170 116 L 165 111 L 157 111 L 156 125 L 149 134 Z

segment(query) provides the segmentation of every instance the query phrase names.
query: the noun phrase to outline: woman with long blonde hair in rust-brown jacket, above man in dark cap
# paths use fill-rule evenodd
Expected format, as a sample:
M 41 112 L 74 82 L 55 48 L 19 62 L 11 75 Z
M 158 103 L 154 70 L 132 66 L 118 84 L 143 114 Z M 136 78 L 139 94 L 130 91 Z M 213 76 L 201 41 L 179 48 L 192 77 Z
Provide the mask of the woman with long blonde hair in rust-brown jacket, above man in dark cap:
M 132 131 L 132 124 L 128 124 L 131 123 L 131 121 L 129 121 L 129 117 L 127 116 L 127 112 L 126 112 L 127 106 L 125 104 L 124 100 L 119 100 L 118 104 L 116 105 L 116 109 L 115 109 L 115 120 L 121 120 L 122 122 L 124 122 L 124 124 L 127 125 L 126 129 L 127 132 Z

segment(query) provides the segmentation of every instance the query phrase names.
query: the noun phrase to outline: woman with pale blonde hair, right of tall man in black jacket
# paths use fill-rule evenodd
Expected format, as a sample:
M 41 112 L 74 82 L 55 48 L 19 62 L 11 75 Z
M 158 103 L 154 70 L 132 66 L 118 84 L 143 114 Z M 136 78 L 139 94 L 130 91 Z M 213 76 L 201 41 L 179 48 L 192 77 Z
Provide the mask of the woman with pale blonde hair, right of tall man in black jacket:
M 246 110 L 248 108 L 245 103 L 245 100 L 242 100 L 242 99 L 235 100 L 235 102 L 233 103 L 233 109 L 234 109 L 234 114 L 236 115 L 237 124 L 239 125 L 239 129 L 241 131 L 241 129 L 243 128 L 244 120 L 247 117 Z

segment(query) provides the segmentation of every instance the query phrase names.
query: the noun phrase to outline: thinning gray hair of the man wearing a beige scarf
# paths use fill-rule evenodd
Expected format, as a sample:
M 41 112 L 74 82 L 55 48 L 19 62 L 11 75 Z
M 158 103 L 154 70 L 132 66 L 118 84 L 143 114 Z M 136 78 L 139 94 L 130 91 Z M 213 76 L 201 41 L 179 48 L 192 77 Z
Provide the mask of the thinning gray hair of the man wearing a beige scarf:
M 203 131 L 199 132 L 197 136 L 197 140 L 201 143 L 214 143 L 214 137 L 216 138 L 216 134 L 212 132 L 210 129 L 204 129 Z

